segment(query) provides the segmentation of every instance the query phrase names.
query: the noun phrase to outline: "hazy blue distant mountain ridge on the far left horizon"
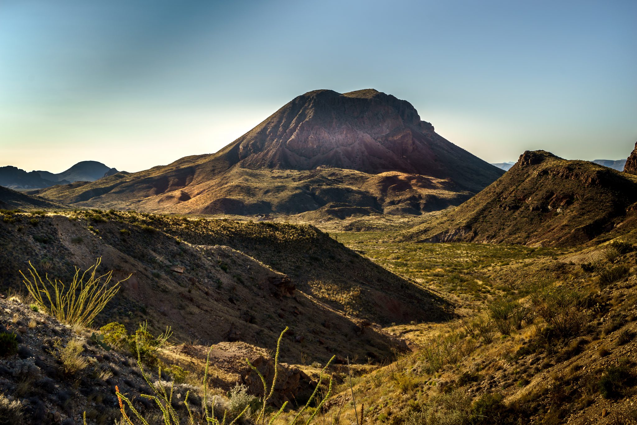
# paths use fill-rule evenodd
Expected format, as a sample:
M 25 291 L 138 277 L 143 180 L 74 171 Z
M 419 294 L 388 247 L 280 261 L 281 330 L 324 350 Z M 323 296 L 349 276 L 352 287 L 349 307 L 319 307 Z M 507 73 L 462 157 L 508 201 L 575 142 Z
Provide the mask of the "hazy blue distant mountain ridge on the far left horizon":
M 115 168 L 108 168 L 97 161 L 81 161 L 62 173 L 49 171 L 27 172 L 14 166 L 0 167 L 0 186 L 10 189 L 42 189 L 57 184 L 74 182 L 94 182 L 104 176 L 118 173 Z

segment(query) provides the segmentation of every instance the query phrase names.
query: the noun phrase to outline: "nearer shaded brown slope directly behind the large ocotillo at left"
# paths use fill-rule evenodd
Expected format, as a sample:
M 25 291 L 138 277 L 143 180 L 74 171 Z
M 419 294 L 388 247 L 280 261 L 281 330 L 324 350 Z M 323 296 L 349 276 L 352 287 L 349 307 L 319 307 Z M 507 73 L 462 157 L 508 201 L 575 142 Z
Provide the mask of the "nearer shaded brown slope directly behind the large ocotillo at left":
M 18 270 L 27 259 L 69 282 L 73 264 L 86 268 L 100 256 L 103 270 L 114 270 L 115 278 L 132 276 L 97 318 L 98 326 L 118 321 L 136 328 L 148 319 L 154 329 L 172 326 L 177 342 L 243 341 L 268 349 L 290 326 L 285 360 L 295 363 L 303 351 L 318 361 L 341 353 L 364 361 L 404 348 L 252 257 L 222 245 L 191 245 L 126 217 L 81 212 L 41 215 L 32 224 L 31 215 L 15 213 L 13 220 L 0 220 L 0 290 L 22 286 Z

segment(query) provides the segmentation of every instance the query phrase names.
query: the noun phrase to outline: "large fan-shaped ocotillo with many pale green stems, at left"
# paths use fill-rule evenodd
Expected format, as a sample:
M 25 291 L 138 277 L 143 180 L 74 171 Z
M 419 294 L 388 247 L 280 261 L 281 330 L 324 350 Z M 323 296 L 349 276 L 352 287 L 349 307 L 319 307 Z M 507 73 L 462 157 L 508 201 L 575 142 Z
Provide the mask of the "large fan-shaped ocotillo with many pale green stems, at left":
M 81 270 L 76 267 L 73 282 L 68 287 L 60 280 L 52 281 L 48 275 L 45 275 L 45 282 L 31 261 L 31 278 L 21 270 L 20 275 L 39 309 L 61 322 L 89 326 L 108 301 L 117 294 L 120 284 L 126 280 L 119 280 L 116 284 L 110 285 L 112 270 L 104 275 L 96 275 L 100 263 L 101 258 L 98 258 L 96 264 L 83 271 L 82 275 Z

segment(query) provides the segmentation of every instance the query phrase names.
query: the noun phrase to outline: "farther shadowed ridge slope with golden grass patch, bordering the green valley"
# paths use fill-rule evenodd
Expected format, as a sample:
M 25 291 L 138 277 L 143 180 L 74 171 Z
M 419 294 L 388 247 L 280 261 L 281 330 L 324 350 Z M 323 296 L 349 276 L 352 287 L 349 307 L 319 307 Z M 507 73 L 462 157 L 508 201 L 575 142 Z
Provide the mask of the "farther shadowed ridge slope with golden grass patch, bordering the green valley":
M 313 226 L 126 215 L 196 245 L 227 245 L 288 275 L 301 291 L 380 324 L 448 317 L 448 304 Z

